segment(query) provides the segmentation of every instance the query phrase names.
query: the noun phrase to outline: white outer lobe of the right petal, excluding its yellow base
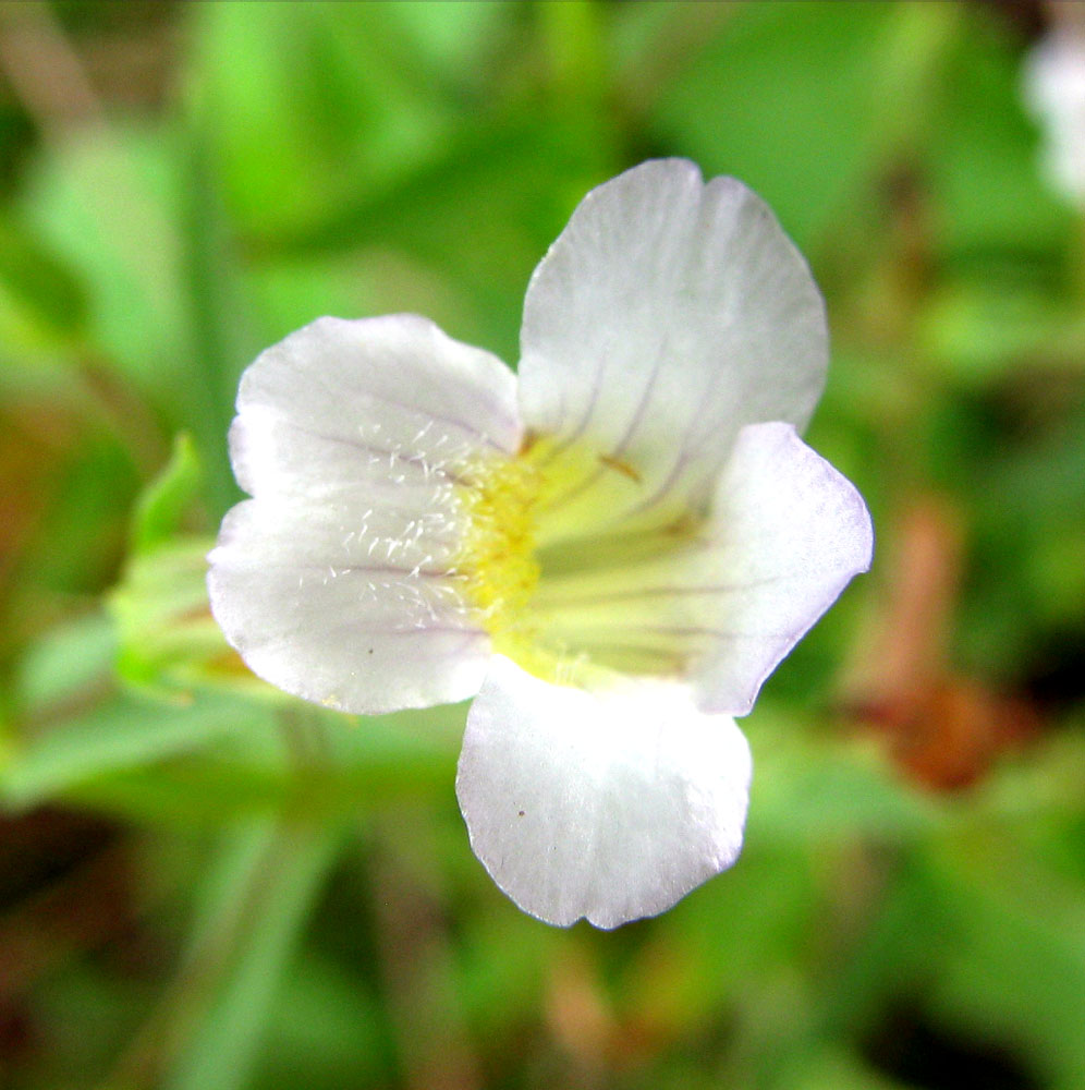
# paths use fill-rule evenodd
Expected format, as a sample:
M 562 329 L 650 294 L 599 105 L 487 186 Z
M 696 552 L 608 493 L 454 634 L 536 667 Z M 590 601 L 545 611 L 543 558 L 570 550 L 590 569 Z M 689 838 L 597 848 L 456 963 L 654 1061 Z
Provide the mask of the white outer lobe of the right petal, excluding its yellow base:
M 723 630 L 697 669 L 698 703 L 745 715 L 765 679 L 867 571 L 874 526 L 850 481 L 790 424 L 742 429 L 716 493 Z

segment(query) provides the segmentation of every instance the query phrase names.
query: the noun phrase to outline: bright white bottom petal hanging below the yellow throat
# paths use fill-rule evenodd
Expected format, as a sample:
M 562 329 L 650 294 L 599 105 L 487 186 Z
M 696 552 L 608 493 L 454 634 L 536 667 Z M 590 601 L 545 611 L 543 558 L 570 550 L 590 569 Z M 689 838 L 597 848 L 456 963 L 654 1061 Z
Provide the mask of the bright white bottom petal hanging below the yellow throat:
M 456 794 L 475 855 L 524 911 L 615 928 L 734 862 L 749 776 L 734 722 L 698 712 L 684 686 L 592 693 L 497 655 Z

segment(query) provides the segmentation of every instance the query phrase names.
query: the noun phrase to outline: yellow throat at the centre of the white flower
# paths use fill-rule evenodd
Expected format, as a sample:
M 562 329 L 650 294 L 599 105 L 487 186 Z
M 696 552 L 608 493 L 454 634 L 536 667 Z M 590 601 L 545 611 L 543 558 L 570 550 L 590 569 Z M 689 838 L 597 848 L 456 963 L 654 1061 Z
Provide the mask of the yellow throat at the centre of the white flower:
M 529 440 L 458 475 L 454 572 L 495 651 L 583 683 L 600 670 L 678 676 L 704 650 L 702 604 L 679 585 L 705 552 L 702 512 L 617 517 L 647 498 L 642 474 L 583 444 Z

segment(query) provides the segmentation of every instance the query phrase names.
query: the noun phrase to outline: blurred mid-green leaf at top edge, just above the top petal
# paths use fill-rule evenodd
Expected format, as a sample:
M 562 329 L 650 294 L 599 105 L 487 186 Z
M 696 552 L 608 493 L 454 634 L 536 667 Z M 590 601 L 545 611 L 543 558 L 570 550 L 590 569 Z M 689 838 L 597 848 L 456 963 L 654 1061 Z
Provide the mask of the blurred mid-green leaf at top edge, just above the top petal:
M 707 174 L 742 179 L 804 245 L 886 150 L 888 107 L 899 98 L 882 86 L 882 65 L 909 7 L 735 7 L 722 33 L 660 89 L 654 128 Z M 941 5 L 918 7 L 940 17 Z

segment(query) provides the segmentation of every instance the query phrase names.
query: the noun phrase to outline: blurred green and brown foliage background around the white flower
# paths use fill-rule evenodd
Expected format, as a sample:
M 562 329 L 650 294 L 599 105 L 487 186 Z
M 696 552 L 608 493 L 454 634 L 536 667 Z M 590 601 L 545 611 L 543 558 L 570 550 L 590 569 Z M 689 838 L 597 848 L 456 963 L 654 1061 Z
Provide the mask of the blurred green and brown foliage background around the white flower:
M 1085 220 L 980 3 L 0 4 L 0 1086 L 1085 1086 Z M 465 708 L 248 676 L 203 556 L 242 368 L 416 311 L 514 364 L 594 184 L 682 155 L 829 305 L 874 512 L 744 720 L 745 852 L 521 915 Z

